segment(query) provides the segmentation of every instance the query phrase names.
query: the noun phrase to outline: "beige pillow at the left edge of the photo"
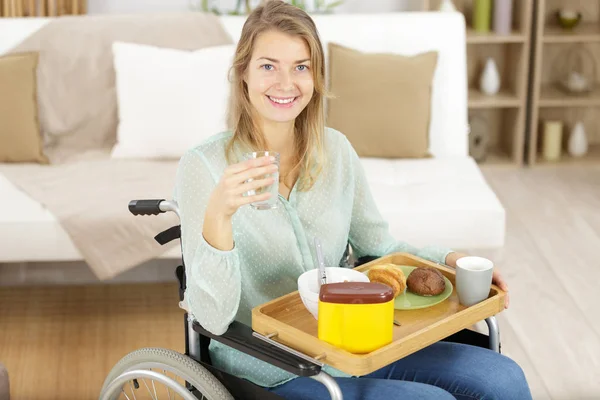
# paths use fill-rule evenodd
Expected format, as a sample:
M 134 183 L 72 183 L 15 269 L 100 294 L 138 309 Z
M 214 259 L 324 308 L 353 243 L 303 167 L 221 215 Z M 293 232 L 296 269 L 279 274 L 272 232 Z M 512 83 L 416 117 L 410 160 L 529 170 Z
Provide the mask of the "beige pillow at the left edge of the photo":
M 38 124 L 37 53 L 0 57 L 0 162 L 47 164 Z

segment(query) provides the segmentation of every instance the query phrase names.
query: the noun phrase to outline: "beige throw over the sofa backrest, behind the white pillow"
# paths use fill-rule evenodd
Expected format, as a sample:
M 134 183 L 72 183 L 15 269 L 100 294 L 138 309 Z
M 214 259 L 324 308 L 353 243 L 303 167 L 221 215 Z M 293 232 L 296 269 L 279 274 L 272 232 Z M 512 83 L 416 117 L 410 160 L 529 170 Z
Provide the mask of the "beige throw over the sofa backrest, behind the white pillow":
M 44 150 L 52 163 L 114 146 L 118 116 L 111 46 L 115 41 L 191 51 L 230 44 L 231 38 L 218 16 L 203 12 L 52 18 L 24 37 L 9 52 L 43 54 L 38 66 L 38 106 Z

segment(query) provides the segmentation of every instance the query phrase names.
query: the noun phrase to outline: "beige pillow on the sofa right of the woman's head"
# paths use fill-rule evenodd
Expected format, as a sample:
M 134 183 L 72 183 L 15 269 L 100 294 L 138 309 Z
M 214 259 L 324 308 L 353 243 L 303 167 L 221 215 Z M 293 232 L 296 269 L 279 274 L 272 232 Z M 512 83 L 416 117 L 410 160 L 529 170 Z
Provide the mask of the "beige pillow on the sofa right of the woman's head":
M 327 125 L 359 156 L 429 156 L 432 80 L 437 52 L 362 53 L 329 43 Z

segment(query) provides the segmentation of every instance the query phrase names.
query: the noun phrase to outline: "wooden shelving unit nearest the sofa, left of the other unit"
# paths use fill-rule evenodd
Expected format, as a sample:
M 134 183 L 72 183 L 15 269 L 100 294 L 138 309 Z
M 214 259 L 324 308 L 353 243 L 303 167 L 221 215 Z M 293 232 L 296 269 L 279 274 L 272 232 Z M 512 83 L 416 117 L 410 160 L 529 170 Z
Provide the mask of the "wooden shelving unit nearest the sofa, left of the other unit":
M 423 0 L 423 10 L 435 11 L 440 0 Z M 485 120 L 489 128 L 488 157 L 482 163 L 521 166 L 525 152 L 528 74 L 534 0 L 514 0 L 509 35 L 476 32 L 471 24 L 473 0 L 453 0 L 467 21 L 469 118 Z M 490 17 L 493 20 L 492 17 Z M 492 57 L 500 72 L 501 89 L 489 96 L 479 90 L 485 60 Z

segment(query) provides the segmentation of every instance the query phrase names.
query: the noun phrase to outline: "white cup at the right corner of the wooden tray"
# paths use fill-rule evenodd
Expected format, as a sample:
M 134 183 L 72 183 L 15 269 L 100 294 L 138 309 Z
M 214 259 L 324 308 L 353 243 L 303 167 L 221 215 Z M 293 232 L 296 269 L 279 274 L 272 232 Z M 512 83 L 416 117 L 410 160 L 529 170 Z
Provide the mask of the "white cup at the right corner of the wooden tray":
M 483 257 L 463 257 L 456 261 L 456 292 L 463 306 L 469 307 L 488 298 L 494 263 Z

